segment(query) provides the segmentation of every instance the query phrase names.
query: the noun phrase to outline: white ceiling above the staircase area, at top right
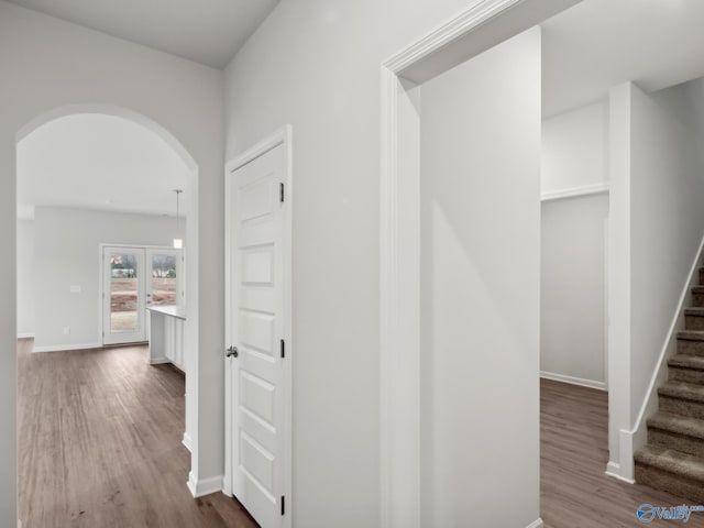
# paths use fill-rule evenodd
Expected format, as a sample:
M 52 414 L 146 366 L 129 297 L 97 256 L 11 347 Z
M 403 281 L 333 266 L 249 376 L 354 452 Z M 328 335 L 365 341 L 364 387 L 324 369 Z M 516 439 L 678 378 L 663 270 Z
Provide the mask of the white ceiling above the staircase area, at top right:
M 543 117 L 704 76 L 704 1 L 584 0 L 542 25 Z

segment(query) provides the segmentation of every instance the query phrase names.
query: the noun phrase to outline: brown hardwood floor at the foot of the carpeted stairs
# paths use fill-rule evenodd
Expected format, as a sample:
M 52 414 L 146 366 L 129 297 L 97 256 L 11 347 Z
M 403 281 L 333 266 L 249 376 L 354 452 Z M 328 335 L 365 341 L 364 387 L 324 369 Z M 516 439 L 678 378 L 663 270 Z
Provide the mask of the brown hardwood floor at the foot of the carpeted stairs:
M 607 394 L 541 380 L 541 516 L 546 528 L 704 527 L 704 513 L 689 522 L 636 517 L 644 503 L 692 505 L 663 492 L 604 474 L 608 461 Z

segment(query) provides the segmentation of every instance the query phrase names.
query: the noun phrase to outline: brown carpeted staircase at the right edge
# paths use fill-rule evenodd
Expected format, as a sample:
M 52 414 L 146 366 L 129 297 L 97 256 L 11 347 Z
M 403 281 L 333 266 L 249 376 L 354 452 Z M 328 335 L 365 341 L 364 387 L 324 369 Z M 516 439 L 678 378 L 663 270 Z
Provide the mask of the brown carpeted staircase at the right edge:
M 636 482 L 704 504 L 704 267 L 684 309 L 685 330 L 668 361 L 669 380 L 658 388 L 648 443 L 636 452 Z

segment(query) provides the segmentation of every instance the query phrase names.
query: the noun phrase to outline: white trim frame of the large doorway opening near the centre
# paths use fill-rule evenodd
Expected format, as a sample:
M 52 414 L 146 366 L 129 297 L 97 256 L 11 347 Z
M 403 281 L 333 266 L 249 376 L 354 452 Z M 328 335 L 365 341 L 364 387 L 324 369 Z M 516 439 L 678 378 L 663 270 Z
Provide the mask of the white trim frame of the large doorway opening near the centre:
M 580 1 L 479 0 L 382 64 L 380 477 L 384 528 L 420 528 L 420 120 L 414 89 Z

